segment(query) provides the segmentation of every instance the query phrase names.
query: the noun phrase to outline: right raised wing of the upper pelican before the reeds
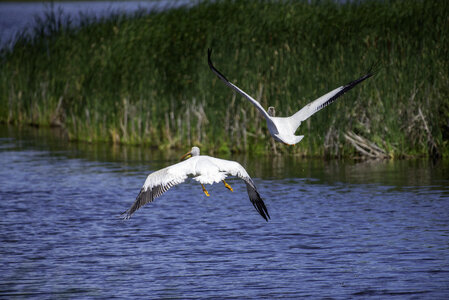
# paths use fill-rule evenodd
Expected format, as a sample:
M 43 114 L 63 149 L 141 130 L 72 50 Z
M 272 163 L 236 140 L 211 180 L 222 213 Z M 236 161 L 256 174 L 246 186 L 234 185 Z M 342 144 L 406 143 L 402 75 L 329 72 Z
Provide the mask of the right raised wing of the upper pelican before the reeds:
M 301 125 L 302 121 L 307 120 L 311 115 L 321 110 L 322 108 L 328 106 L 329 104 L 337 100 L 338 97 L 340 97 L 341 95 L 343 95 L 344 93 L 355 87 L 357 84 L 364 81 L 365 79 L 370 78 L 373 75 L 374 73 L 371 72 L 370 70 L 366 75 L 363 75 L 359 79 L 356 79 L 346 85 L 338 87 L 335 90 L 330 91 L 326 95 L 321 96 L 320 98 L 310 102 L 309 104 L 304 106 L 301 110 L 299 110 L 294 115 L 289 117 L 292 127 L 296 130 L 296 128 L 298 128 L 298 126 Z

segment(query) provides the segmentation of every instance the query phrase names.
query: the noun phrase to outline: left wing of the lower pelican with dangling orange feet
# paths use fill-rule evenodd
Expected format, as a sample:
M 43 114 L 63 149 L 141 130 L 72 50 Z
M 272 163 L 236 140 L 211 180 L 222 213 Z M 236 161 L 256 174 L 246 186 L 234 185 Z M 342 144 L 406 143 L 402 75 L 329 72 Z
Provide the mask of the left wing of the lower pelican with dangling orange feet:
M 186 168 L 188 162 L 186 160 L 148 175 L 133 205 L 122 213 L 122 218 L 129 219 L 140 207 L 148 202 L 153 202 L 155 198 L 168 191 L 171 187 L 183 183 L 189 175 L 188 168 Z

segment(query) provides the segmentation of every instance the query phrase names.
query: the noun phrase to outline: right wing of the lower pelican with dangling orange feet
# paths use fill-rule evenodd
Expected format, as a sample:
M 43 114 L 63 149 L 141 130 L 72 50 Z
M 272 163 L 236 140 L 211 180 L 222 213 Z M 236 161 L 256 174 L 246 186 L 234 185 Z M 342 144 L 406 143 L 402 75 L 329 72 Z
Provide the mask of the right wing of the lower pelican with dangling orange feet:
M 268 214 L 267 207 L 265 206 L 265 203 L 260 197 L 253 180 L 248 175 L 245 168 L 243 168 L 242 165 L 236 161 L 230 161 L 215 157 L 213 157 L 213 162 L 216 166 L 218 166 L 220 171 L 226 172 L 231 176 L 237 176 L 238 178 L 245 181 L 249 200 L 254 205 L 254 208 L 257 210 L 257 212 L 262 216 L 262 218 L 264 218 L 265 221 L 268 221 L 268 219 L 270 219 L 270 215 Z

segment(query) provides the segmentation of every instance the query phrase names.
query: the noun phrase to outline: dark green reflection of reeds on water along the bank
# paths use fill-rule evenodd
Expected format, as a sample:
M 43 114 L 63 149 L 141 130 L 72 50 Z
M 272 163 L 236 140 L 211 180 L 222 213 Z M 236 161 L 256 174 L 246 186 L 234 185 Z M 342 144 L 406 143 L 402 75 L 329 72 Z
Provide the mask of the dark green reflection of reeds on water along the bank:
M 57 157 L 82 157 L 92 161 L 122 162 L 129 165 L 148 164 L 148 171 L 165 167 L 178 161 L 190 149 L 158 151 L 143 146 L 112 145 L 109 143 L 69 143 L 59 129 L 35 129 L 0 126 L 0 136 L 11 139 L 13 145 L 48 150 Z M 2 143 L 0 149 L 10 147 Z M 298 145 L 301 147 L 301 145 Z M 207 154 L 207 153 L 202 153 Z M 414 160 L 325 160 L 280 155 L 221 155 L 221 158 L 240 162 L 252 177 L 264 179 L 305 178 L 313 182 L 335 184 L 380 184 L 387 186 L 447 186 L 449 161 Z M 150 167 L 151 166 L 151 167 Z

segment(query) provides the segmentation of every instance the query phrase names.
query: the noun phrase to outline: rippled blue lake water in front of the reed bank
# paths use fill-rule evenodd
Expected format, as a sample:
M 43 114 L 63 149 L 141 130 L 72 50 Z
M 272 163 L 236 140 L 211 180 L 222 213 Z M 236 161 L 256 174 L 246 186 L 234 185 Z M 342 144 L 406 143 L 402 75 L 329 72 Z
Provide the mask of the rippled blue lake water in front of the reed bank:
M 447 299 L 447 162 L 232 156 L 269 222 L 237 179 L 118 218 L 183 152 L 0 126 L 0 298 Z

